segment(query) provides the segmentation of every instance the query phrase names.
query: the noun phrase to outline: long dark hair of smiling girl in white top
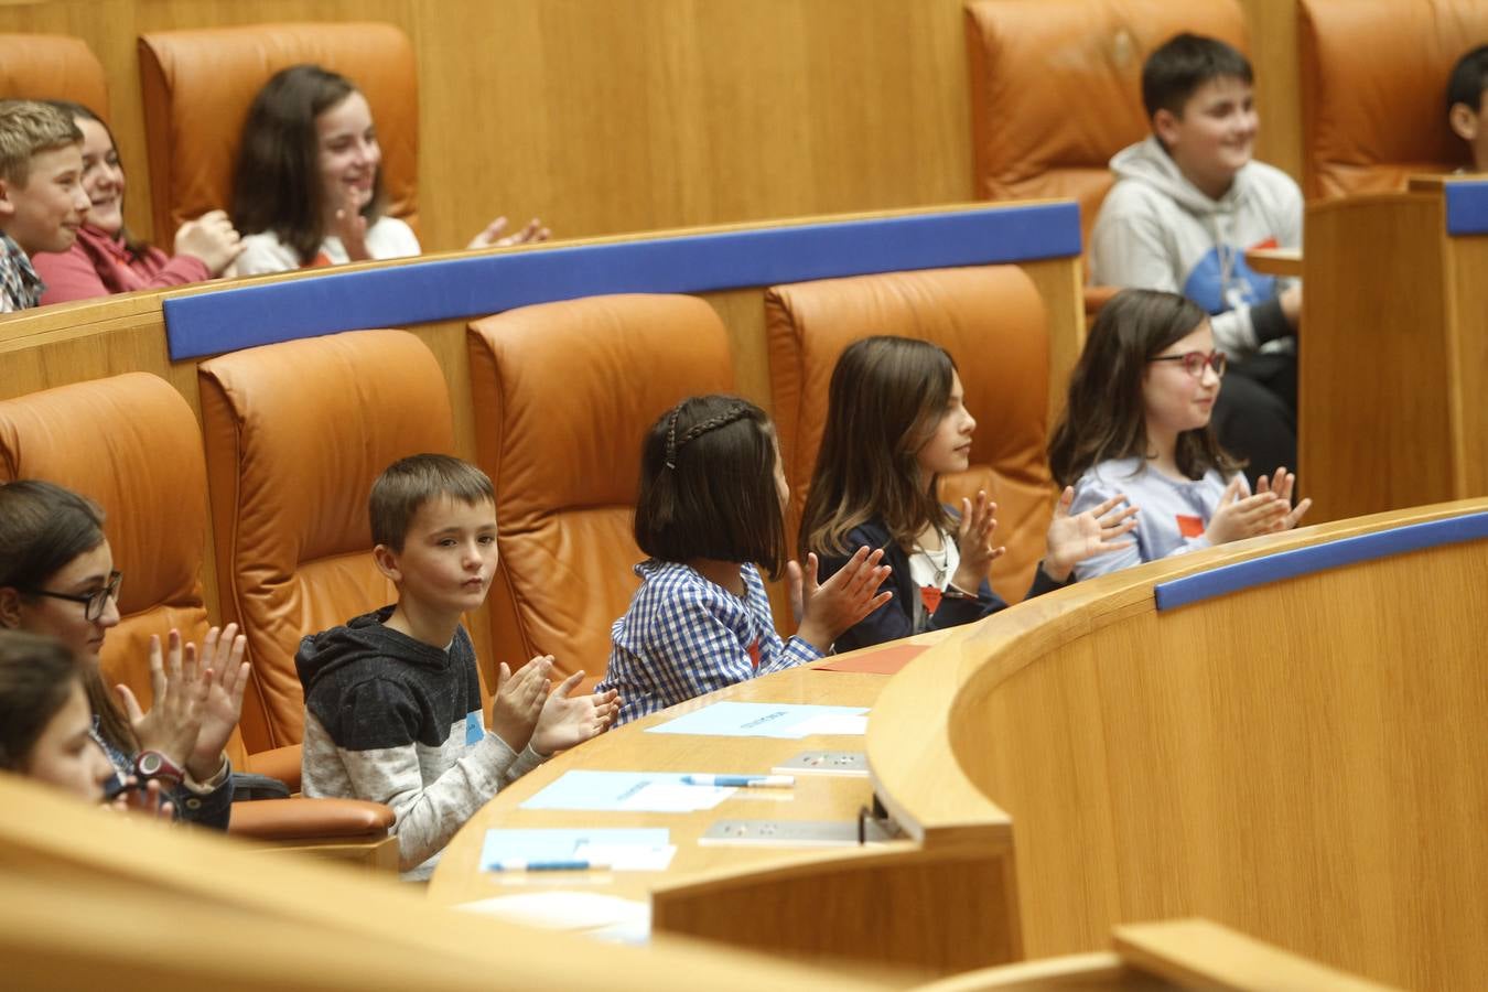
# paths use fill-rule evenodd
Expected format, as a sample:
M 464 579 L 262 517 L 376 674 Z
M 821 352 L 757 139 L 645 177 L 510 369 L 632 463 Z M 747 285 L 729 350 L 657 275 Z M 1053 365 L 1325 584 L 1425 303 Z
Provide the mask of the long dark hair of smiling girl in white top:
M 315 117 L 357 92 L 350 79 L 320 65 L 290 65 L 263 83 L 243 122 L 232 170 L 232 223 L 243 233 L 271 231 L 295 248 L 301 265 L 326 239 L 326 193 L 320 181 Z M 382 165 L 372 199 L 362 208 L 368 226 L 382 216 Z

